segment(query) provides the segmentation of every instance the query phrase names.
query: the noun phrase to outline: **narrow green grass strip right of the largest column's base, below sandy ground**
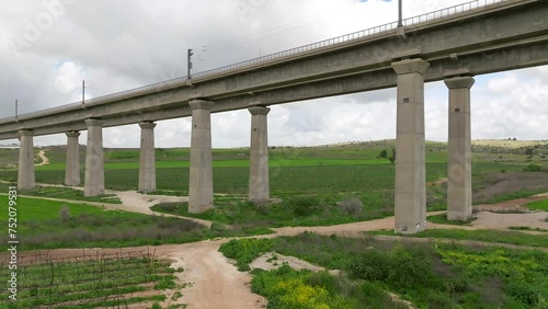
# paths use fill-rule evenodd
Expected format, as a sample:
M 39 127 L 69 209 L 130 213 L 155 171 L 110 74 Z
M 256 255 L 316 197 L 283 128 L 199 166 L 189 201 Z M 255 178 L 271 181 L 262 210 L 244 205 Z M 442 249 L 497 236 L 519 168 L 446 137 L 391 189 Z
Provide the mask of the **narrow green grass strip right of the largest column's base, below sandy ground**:
M 367 232 L 369 234 L 396 236 L 392 230 Z M 507 243 L 516 245 L 528 245 L 548 248 L 548 234 L 528 234 L 520 231 L 505 230 L 463 230 L 463 229 L 427 229 L 406 237 L 415 238 L 444 238 L 455 240 L 475 240 L 492 243 Z

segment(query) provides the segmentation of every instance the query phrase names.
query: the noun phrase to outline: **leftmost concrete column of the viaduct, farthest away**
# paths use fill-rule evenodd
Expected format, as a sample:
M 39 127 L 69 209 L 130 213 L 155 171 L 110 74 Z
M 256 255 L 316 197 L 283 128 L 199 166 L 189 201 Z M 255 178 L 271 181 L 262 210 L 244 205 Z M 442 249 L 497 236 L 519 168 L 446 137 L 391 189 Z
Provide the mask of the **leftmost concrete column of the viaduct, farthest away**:
M 21 140 L 19 148 L 18 188 L 28 190 L 36 186 L 34 179 L 34 133 L 30 129 L 19 130 Z

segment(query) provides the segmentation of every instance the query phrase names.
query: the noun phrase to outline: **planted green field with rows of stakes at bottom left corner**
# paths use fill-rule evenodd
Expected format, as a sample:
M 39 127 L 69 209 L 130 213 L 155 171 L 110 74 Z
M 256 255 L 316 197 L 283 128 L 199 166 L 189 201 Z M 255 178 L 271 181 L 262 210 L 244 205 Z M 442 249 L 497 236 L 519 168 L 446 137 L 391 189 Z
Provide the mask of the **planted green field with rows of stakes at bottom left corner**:
M 82 261 L 83 260 L 83 261 Z M 8 288 L 0 291 L 1 308 L 96 308 L 164 300 L 163 286 L 174 287 L 170 263 L 153 256 L 102 255 L 77 262 L 42 261 L 18 267 L 18 301 Z M 0 276 L 8 277 L 8 267 Z M 7 287 L 3 283 L 2 286 Z M 136 296 L 146 293 L 147 296 Z

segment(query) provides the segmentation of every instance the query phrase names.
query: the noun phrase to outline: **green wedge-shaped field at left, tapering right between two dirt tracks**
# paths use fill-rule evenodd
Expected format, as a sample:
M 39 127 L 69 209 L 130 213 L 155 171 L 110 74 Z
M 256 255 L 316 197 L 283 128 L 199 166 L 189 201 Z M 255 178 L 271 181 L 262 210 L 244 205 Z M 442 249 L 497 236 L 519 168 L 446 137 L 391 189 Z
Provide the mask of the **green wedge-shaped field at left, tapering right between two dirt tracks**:
M 0 203 L 8 205 L 8 196 L 0 196 Z M 2 211 L 0 220 L 7 221 L 7 216 L 8 211 Z M 35 250 L 158 245 L 272 231 L 261 227 L 218 225 L 208 229 L 179 218 L 19 197 L 18 232 L 19 249 Z M 7 234 L 0 236 L 1 250 L 5 250 L 7 241 Z

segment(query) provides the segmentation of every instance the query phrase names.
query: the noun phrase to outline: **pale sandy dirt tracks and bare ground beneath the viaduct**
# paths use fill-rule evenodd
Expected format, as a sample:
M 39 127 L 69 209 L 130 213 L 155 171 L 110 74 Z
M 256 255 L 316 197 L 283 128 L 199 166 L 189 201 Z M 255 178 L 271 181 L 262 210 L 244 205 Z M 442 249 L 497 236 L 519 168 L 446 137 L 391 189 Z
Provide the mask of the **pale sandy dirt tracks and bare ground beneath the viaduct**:
M 148 207 L 164 202 L 182 202 L 184 197 L 175 196 L 157 196 L 157 195 L 142 195 L 137 192 L 109 192 L 116 194 L 123 202 L 119 204 L 104 204 L 104 203 L 88 203 L 94 205 L 102 205 L 107 208 L 123 209 L 128 211 L 136 211 L 142 214 L 153 214 Z M 545 197 L 548 196 L 545 195 Z M 530 199 L 527 199 L 530 202 Z M 79 202 L 80 203 L 80 202 Z M 525 203 L 514 202 L 514 203 Z M 513 205 L 512 202 L 502 203 L 501 205 Z M 491 206 L 491 207 L 496 207 Z M 502 207 L 502 206 L 501 206 Z M 429 215 L 443 214 L 444 211 L 429 213 Z M 157 214 L 158 215 L 158 214 Z M 464 229 L 505 229 L 507 227 L 528 226 L 532 228 L 539 227 L 548 229 L 548 222 L 543 221 L 548 218 L 548 213 L 536 211 L 528 214 L 495 214 L 491 211 L 476 213 L 477 220 L 472 226 L 441 226 L 430 225 L 429 228 L 464 228 Z M 199 220 L 202 224 L 209 224 L 208 221 Z M 277 228 L 274 229 L 276 234 L 264 237 L 277 236 L 294 236 L 304 231 L 313 231 L 321 234 L 336 233 L 339 236 L 359 236 L 363 231 L 393 229 L 393 217 L 383 218 L 378 220 L 354 222 L 331 227 L 294 227 L 294 228 Z M 263 297 L 252 294 L 250 290 L 251 276 L 248 273 L 238 272 L 236 266 L 230 263 L 221 253 L 218 248 L 227 239 L 215 241 L 201 241 L 195 243 L 184 244 L 169 244 L 156 247 L 153 250 L 160 258 L 171 259 L 173 266 L 182 266 L 184 272 L 179 275 L 180 283 L 185 283 L 181 291 L 183 297 L 174 302 L 167 300 L 163 306 L 170 304 L 187 304 L 190 309 L 197 308 L 239 308 L 239 309 L 254 309 L 264 308 L 266 301 Z M 121 249 L 98 249 L 100 254 L 103 252 L 119 252 Z M 88 250 L 88 253 L 95 255 L 98 250 Z M 148 250 L 147 248 L 126 248 L 122 250 Z M 33 254 L 21 253 L 21 254 Z M 52 258 L 67 258 L 81 255 L 82 250 L 52 250 L 48 252 Z M 1 255 L 1 254 L 0 254 Z M 276 254 L 279 264 L 287 261 L 296 267 L 310 267 L 319 270 L 320 267 L 311 265 L 307 262 L 299 261 L 295 258 L 281 258 Z M 273 266 L 274 263 L 266 262 L 271 255 L 260 258 L 252 264 L 252 267 L 267 267 L 267 264 Z M 273 261 L 274 262 L 274 261 Z M 171 294 L 173 291 L 169 291 Z M 169 297 L 170 298 L 170 297 Z

